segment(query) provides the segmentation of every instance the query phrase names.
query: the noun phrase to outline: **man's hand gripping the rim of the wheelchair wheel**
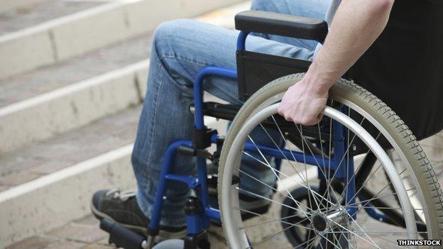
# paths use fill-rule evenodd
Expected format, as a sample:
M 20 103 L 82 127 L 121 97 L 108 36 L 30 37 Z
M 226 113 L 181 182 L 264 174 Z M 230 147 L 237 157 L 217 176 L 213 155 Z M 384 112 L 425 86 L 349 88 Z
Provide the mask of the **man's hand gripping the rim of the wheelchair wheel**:
M 287 121 L 304 126 L 319 123 L 323 117 L 322 111 L 326 106 L 328 92 L 315 91 L 311 84 L 302 79 L 289 87 L 278 106 L 278 114 L 284 116 Z

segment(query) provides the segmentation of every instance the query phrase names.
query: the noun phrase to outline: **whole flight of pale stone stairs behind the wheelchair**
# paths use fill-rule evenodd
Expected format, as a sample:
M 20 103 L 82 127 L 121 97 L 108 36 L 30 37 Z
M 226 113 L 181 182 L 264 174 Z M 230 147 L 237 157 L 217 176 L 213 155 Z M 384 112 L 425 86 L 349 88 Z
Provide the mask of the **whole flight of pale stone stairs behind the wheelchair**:
M 93 192 L 134 188 L 130 156 L 153 30 L 175 18 L 232 28 L 249 4 L 2 1 L 0 248 L 33 248 L 26 241 L 35 236 L 84 226 L 72 222 L 90 214 Z

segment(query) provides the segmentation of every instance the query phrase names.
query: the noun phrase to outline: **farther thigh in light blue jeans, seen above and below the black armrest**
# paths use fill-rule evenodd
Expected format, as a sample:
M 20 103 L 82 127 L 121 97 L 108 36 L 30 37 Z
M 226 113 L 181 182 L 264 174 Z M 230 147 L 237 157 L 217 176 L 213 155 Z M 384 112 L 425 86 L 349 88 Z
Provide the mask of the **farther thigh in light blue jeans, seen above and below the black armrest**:
M 324 20 L 327 9 L 332 0 L 253 0 L 252 10 L 284 13 L 293 16 L 305 16 Z M 267 35 L 254 33 L 270 40 L 280 43 L 288 43 L 301 48 L 315 50 L 317 42 L 315 40 L 302 40 L 297 38 L 287 38 L 279 35 Z

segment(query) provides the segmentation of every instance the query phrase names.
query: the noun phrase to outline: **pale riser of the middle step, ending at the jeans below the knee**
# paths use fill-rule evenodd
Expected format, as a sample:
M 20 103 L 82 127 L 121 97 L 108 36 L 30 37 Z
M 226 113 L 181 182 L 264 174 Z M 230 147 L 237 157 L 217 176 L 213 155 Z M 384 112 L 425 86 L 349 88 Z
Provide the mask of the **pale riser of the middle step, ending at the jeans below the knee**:
M 148 65 L 138 62 L 0 109 L 0 154 L 140 104 Z

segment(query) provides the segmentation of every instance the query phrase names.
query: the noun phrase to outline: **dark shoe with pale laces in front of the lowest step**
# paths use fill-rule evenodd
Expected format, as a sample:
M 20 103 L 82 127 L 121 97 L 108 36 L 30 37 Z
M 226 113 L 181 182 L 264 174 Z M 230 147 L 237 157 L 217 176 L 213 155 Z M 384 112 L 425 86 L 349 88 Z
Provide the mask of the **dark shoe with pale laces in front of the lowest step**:
M 92 196 L 91 210 L 99 220 L 107 218 L 109 221 L 114 221 L 125 228 L 147 236 L 147 226 L 150 220 L 138 206 L 135 191 L 99 190 Z M 186 233 L 186 226 L 180 228 L 160 226 L 158 236 L 184 238 Z

